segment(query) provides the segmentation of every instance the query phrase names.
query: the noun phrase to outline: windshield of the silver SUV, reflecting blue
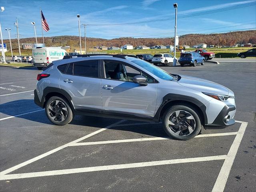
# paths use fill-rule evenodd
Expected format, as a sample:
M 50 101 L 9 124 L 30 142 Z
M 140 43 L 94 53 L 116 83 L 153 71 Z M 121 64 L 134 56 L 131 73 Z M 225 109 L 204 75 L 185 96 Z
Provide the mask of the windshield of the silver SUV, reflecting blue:
M 157 66 L 154 66 L 144 60 L 140 60 L 140 59 L 136 59 L 136 60 L 132 60 L 132 58 L 128 58 L 129 60 L 131 60 L 131 62 L 137 64 L 138 66 L 144 68 L 145 70 L 147 70 L 148 72 L 154 74 L 155 76 L 157 76 L 160 79 L 164 79 L 164 80 L 173 80 L 173 76 L 168 74 L 166 71 L 160 69 Z

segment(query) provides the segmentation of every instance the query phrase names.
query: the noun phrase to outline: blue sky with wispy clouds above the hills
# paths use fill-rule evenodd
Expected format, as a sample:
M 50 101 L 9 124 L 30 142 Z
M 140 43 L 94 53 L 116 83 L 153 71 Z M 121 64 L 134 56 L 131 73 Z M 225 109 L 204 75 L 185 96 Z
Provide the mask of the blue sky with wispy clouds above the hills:
M 191 33 L 226 32 L 256 28 L 256 6 L 216 12 L 218 9 L 255 3 L 255 0 L 0 0 L 4 12 L 0 12 L 3 38 L 8 38 L 5 28 L 11 28 L 11 38 L 16 38 L 14 22 L 19 22 L 20 38 L 34 36 L 30 22 L 36 22 L 38 36 L 42 36 L 40 7 L 50 26 L 44 36 L 78 36 L 80 23 L 89 24 L 86 36 L 96 38 L 159 38 L 174 36 L 175 10 L 178 3 L 178 35 Z M 210 11 L 211 14 L 200 15 Z M 198 14 L 191 16 L 191 14 Z M 182 16 L 188 16 L 181 18 Z M 180 18 L 179 18 L 180 17 Z M 168 18 L 164 21 L 148 22 Z M 146 21 L 146 22 L 145 22 Z M 137 24 L 127 24 L 140 22 Z M 126 24 L 124 24 L 126 23 Z M 104 24 L 94 26 L 95 24 Z M 123 24 L 123 25 L 111 25 Z M 84 36 L 84 28 L 81 28 Z

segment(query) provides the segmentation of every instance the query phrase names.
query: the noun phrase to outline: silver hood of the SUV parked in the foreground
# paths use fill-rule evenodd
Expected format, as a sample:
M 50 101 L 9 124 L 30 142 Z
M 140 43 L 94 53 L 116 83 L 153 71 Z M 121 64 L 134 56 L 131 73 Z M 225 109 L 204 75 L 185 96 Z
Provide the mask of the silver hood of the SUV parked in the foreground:
M 184 87 L 191 88 L 204 93 L 222 94 L 222 95 L 229 94 L 228 88 L 220 84 L 214 83 L 212 81 L 208 81 L 201 78 L 181 76 L 178 83 Z

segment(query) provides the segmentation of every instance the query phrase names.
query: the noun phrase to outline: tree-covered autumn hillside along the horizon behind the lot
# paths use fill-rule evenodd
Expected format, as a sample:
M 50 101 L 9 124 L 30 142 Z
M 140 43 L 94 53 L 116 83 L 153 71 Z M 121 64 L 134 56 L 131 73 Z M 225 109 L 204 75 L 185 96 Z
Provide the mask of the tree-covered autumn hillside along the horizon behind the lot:
M 46 46 L 70 46 L 69 51 L 73 51 L 74 47 L 79 47 L 79 36 L 53 36 L 44 38 Z M 22 43 L 35 43 L 35 38 L 20 39 Z M 38 37 L 38 43 L 42 42 L 42 37 Z M 5 39 L 4 43 L 10 47 L 9 40 Z M 256 30 L 228 32 L 221 34 L 187 34 L 180 36 L 179 44 L 194 45 L 199 43 L 214 44 L 214 45 L 234 45 L 235 43 L 252 43 L 256 44 Z M 86 38 L 86 47 L 93 48 L 94 46 L 117 46 L 124 44 L 132 44 L 133 46 L 145 45 L 153 46 L 157 44 L 174 44 L 174 38 L 115 38 L 111 40 L 100 38 Z M 84 47 L 84 38 L 82 37 L 82 47 Z M 18 48 L 18 41 L 12 39 L 12 48 Z

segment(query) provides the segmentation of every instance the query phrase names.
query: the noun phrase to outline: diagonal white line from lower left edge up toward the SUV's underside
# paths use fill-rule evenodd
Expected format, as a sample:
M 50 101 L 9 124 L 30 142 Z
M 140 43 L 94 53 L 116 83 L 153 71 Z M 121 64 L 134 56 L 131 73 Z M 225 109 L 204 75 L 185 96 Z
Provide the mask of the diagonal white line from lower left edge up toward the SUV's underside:
M 62 150 L 62 149 L 64 149 L 64 148 L 68 147 L 70 144 L 73 144 L 73 143 L 76 143 L 76 142 L 80 142 L 80 141 L 82 141 L 82 140 L 84 140 L 84 139 L 86 139 L 86 138 L 89 138 L 89 137 L 91 137 L 91 136 L 94 136 L 95 134 L 98 134 L 98 133 L 100 133 L 100 132 L 102 132 L 102 131 L 104 131 L 104 130 L 106 130 L 106 129 L 108 129 L 108 128 L 111 128 L 112 126 L 114 126 L 114 125 L 116 125 L 116 124 L 122 123 L 122 122 L 124 122 L 124 121 L 125 121 L 125 120 L 120 120 L 120 121 L 118 121 L 118 122 L 116 122 L 116 123 L 113 123 L 113 124 L 111 124 L 111 125 L 109 125 L 109 126 L 106 126 L 105 128 L 102 128 L 102 129 L 100 129 L 100 130 L 97 130 L 97 131 L 95 131 L 95 132 L 92 132 L 92 133 L 90 133 L 90 134 L 88 134 L 88 135 L 86 135 L 86 136 L 83 136 L 83 137 L 81 137 L 81 138 L 79 138 L 79 139 L 77 139 L 77 140 L 74 140 L 74 141 L 72 141 L 72 142 L 69 142 L 69 143 L 67 143 L 67 144 L 64 144 L 64 145 L 62 145 L 62 146 L 60 146 L 60 147 L 57 147 L 57 148 L 55 148 L 55 149 L 53 149 L 53 150 L 50 150 L 50 151 L 44 153 L 44 154 L 42 154 L 42 155 L 36 156 L 36 157 L 34 157 L 34 158 L 30 159 L 30 160 L 27 160 L 27 161 L 25 161 L 25 162 L 23 162 L 23 163 L 21 163 L 21 164 L 18 164 L 18 165 L 14 166 L 14 167 L 11 167 L 11 168 L 9 168 L 9 169 L 6 169 L 6 170 L 0 172 L 0 180 L 3 180 L 3 178 L 4 178 L 3 176 L 4 176 L 5 174 L 8 174 L 8 173 L 10 173 L 10 172 L 12 172 L 12 171 L 14 171 L 14 170 L 16 170 L 16 169 L 19 169 L 19 168 L 21 168 L 21 167 L 23 167 L 23 166 L 26 166 L 26 165 L 28 165 L 28 164 L 30 164 L 30 163 L 32 163 L 32 162 L 35 162 L 35 161 L 37 161 L 37 160 L 39 160 L 39 159 L 42 159 L 42 158 L 44 158 L 44 157 L 46 157 L 46 156 L 48 156 L 48 155 L 50 155 L 50 154 L 53 154 L 53 153 L 55 153 L 55 152 L 57 152 L 57 151 L 59 151 L 59 150 Z

